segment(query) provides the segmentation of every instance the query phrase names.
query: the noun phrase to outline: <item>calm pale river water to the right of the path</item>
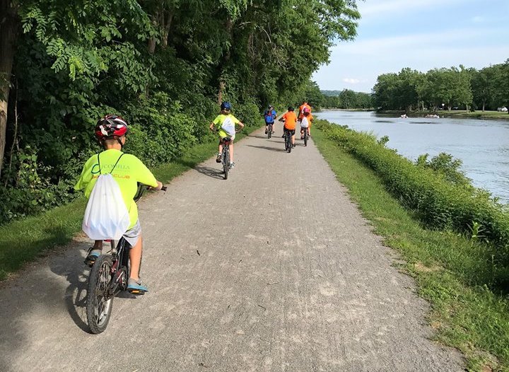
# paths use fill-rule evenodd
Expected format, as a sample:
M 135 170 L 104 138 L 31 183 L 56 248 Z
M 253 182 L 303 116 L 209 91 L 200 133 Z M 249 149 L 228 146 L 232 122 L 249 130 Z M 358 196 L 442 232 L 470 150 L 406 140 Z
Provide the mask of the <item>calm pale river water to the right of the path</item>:
M 476 187 L 509 203 L 509 121 L 387 117 L 375 112 L 324 111 L 315 117 L 351 129 L 388 136 L 387 146 L 415 161 L 450 153 L 462 160 L 461 170 Z

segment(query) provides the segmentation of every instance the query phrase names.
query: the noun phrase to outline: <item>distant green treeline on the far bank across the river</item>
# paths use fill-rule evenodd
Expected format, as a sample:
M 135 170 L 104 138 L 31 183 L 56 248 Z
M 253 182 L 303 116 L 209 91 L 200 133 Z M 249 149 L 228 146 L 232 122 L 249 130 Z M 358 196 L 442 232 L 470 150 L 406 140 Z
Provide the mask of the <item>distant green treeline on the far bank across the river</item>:
M 509 107 L 509 59 L 484 69 L 450 67 L 426 73 L 402 69 L 378 76 L 372 93 L 320 91 L 320 107 L 339 109 L 499 110 Z M 505 108 L 504 108 L 505 107 Z

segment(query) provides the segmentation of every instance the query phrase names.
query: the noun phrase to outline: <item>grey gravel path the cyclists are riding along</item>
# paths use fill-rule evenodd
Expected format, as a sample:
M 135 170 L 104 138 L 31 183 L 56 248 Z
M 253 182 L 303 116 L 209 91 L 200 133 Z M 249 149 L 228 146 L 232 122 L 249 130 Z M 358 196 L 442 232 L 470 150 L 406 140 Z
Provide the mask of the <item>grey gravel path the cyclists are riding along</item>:
M 462 371 L 312 140 L 281 125 L 142 199 L 142 278 L 90 335 L 77 238 L 0 289 L 0 371 Z

